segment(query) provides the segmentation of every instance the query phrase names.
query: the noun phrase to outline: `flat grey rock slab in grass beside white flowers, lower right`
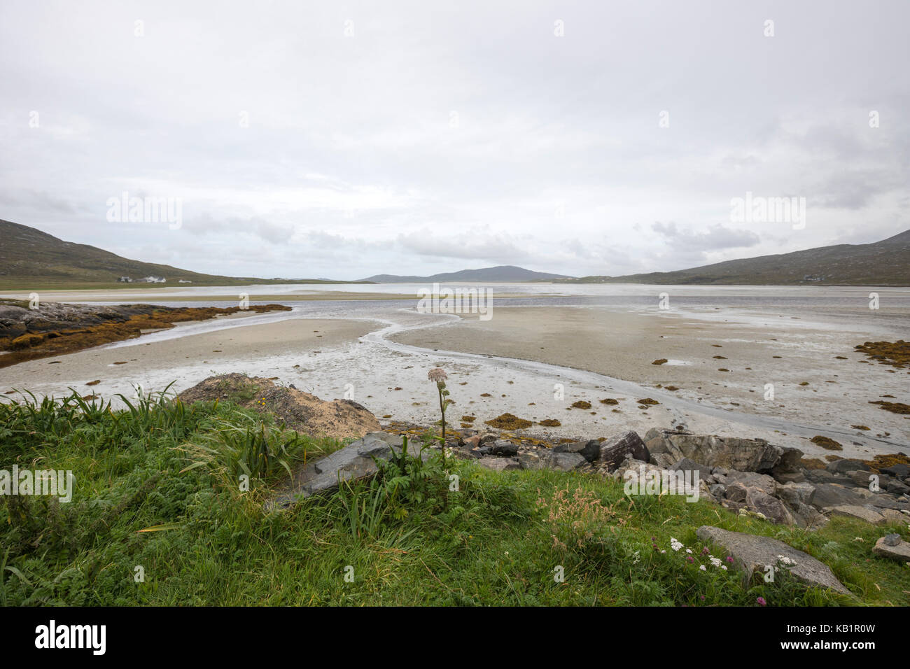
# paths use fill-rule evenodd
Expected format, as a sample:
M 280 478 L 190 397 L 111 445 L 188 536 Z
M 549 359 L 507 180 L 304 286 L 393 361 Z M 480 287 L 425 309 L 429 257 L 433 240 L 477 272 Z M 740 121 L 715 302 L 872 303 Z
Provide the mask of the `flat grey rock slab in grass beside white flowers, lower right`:
M 698 528 L 696 534 L 703 542 L 710 541 L 723 546 L 733 556 L 734 563 L 745 572 L 744 581 L 747 583 L 755 571 L 763 573 L 767 565 L 776 564 L 778 556 L 783 555 L 795 562 L 789 571 L 799 581 L 810 586 L 830 588 L 837 593 L 850 594 L 826 564 L 777 539 L 729 532 L 710 525 Z

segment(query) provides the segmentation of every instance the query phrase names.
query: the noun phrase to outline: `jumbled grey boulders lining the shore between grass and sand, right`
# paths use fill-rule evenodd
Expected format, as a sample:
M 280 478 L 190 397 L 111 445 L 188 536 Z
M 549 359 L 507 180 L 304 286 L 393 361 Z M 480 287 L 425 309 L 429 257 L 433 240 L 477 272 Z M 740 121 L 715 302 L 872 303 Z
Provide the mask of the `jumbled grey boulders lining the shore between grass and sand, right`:
M 560 443 L 551 449 L 515 444 L 503 436 L 461 431 L 455 451 L 495 471 L 592 470 L 624 480 L 627 472 L 697 472 L 698 488 L 734 512 L 786 525 L 817 528 L 833 515 L 866 522 L 910 522 L 910 468 L 897 464 L 871 471 L 861 461 L 838 460 L 808 470 L 803 451 L 762 439 L 648 431 L 644 439 L 626 431 L 608 440 Z

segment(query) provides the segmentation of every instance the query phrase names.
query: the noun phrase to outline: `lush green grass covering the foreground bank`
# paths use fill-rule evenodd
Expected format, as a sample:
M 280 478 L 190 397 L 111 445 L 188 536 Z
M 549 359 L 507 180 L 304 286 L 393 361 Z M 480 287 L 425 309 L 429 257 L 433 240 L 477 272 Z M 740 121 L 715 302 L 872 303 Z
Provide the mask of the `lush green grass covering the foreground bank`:
M 290 433 L 231 402 L 186 406 L 164 393 L 128 401 L 124 411 L 76 394 L 40 402 L 26 394 L 0 404 L 0 468 L 15 463 L 76 476 L 70 503 L 0 497 L 0 603 L 908 601 L 910 568 L 871 553 L 884 528 L 834 518 L 807 532 L 710 502 L 628 498 L 621 483 L 577 472 L 496 473 L 450 459 L 458 492 L 446 492 L 450 479 L 434 459 L 422 468 L 387 467 L 381 480 L 266 512 L 285 464 L 342 444 Z M 263 453 L 273 460 L 264 462 Z M 786 574 L 744 584 L 741 574 L 714 568 L 701 554 L 695 530 L 703 524 L 790 543 L 827 563 L 856 596 L 807 590 Z M 889 529 L 907 538 L 906 527 Z M 671 538 L 693 550 L 695 563 L 672 551 Z

